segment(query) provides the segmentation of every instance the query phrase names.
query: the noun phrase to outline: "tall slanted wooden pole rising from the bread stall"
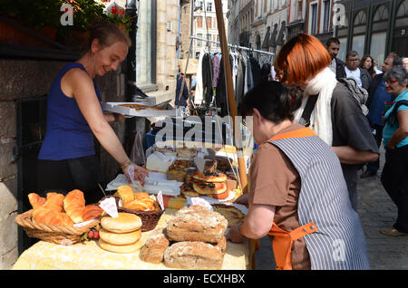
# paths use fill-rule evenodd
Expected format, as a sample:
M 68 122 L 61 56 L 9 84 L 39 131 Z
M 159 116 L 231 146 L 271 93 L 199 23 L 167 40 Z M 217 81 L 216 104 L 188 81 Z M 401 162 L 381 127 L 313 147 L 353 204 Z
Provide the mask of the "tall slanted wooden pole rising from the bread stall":
M 224 14 L 222 13 L 222 2 L 221 0 L 215 0 L 216 6 L 216 14 L 217 14 L 217 24 L 219 27 L 219 43 L 221 46 L 221 53 L 222 53 L 222 62 L 224 64 L 224 72 L 225 72 L 225 80 L 227 84 L 227 95 L 228 95 L 228 106 L 229 106 L 229 113 L 232 118 L 232 126 L 234 130 L 234 135 L 238 136 L 240 133 L 237 133 L 239 127 L 235 126 L 235 120 L 238 116 L 238 109 L 237 103 L 235 101 L 235 92 L 234 86 L 232 82 L 232 72 L 231 66 L 229 62 L 229 52 L 228 52 L 228 43 L 227 43 L 227 36 L 225 34 L 225 24 L 224 24 Z M 236 140 L 238 142 L 238 139 Z M 238 155 L 238 171 L 239 171 L 239 180 L 240 185 L 242 188 L 242 193 L 248 192 L 248 179 L 247 179 L 247 168 L 245 165 L 245 158 L 244 152 L 242 147 L 237 149 Z

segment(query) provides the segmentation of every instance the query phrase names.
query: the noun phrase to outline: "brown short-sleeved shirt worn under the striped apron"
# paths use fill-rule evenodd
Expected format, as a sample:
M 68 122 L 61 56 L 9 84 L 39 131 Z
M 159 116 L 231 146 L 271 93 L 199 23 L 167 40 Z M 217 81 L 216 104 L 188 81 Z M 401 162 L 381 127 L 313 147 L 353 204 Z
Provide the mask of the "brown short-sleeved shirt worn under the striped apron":
M 278 134 L 305 128 L 293 124 Z M 297 204 L 300 176 L 286 154 L 277 146 L 265 143 L 257 149 L 250 168 L 249 206 L 276 206 L 274 222 L 287 232 L 299 227 Z M 272 226 L 272 223 L 271 223 Z M 302 237 L 292 245 L 293 269 L 311 269 L 310 257 Z

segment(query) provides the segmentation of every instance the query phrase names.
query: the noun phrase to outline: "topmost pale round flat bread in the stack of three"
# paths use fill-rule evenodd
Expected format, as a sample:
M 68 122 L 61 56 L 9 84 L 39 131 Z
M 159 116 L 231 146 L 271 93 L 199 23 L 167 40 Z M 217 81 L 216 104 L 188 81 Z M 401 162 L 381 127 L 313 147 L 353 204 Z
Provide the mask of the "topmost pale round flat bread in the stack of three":
M 105 216 L 101 219 L 103 229 L 113 233 L 129 233 L 141 229 L 141 218 L 131 213 L 118 213 L 113 218 Z

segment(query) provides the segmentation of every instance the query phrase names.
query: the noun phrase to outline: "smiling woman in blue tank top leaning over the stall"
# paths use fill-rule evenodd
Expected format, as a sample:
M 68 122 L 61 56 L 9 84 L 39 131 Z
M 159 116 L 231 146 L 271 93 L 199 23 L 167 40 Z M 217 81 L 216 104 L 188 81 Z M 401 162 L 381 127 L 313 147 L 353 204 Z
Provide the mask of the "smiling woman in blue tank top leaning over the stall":
M 104 114 L 96 75 L 116 71 L 131 45 L 129 37 L 106 21 L 90 26 L 86 53 L 68 63 L 55 77 L 47 104 L 47 128 L 39 153 L 40 192 L 69 192 L 81 189 L 87 203 L 97 202 L 103 185 L 101 168 L 95 156 L 93 136 L 121 165 L 135 167 L 135 178 L 143 182 L 148 172 L 131 162 L 109 122 L 123 120 L 118 114 Z

